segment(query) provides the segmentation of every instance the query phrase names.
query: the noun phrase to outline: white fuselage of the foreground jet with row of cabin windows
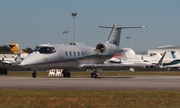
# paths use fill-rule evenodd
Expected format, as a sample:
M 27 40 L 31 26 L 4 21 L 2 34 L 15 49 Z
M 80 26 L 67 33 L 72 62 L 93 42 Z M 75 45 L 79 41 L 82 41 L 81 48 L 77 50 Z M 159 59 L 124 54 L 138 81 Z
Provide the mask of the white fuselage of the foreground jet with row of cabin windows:
M 33 69 L 71 69 L 79 68 L 80 64 L 101 63 L 112 55 L 99 56 L 94 47 L 86 45 L 42 44 L 21 62 L 21 66 Z

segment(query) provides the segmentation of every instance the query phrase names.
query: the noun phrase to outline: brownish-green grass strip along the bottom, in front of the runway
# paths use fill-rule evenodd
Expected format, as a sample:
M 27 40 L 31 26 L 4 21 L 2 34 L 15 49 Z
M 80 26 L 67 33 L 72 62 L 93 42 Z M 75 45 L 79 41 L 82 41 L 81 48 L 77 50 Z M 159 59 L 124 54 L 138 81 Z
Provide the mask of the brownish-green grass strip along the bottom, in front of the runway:
M 179 108 L 179 91 L 0 90 L 1 108 Z

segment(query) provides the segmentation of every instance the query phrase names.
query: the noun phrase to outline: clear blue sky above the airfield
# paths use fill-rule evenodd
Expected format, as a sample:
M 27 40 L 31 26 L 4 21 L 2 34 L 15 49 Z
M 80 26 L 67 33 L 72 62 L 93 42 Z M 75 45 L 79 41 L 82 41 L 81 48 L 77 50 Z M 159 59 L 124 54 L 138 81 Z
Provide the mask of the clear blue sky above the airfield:
M 146 25 L 146 29 L 124 29 L 120 48 L 135 52 L 164 45 L 180 46 L 180 0 L 0 0 L 0 43 L 17 42 L 21 48 L 42 43 L 75 41 L 95 46 L 105 42 L 110 29 L 98 25 Z

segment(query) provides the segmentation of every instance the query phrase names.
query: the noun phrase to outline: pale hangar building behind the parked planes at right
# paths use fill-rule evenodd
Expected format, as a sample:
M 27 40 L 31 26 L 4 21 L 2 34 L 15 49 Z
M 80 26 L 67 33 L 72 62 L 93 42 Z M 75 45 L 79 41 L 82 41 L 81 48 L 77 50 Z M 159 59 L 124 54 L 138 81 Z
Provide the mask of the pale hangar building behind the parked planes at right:
M 165 51 L 177 51 L 180 54 L 180 46 L 175 45 L 167 45 L 167 46 L 159 46 L 158 48 L 148 49 L 148 56 L 151 56 L 154 52 L 164 54 Z

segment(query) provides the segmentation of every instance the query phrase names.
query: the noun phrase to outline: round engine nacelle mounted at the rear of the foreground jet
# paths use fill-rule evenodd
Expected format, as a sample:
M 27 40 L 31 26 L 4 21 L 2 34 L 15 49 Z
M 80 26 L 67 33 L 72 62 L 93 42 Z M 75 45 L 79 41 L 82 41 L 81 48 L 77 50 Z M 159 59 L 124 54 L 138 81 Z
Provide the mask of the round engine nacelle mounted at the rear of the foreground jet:
M 96 45 L 96 53 L 98 55 L 108 55 L 115 54 L 117 52 L 118 46 L 111 43 L 99 43 Z

